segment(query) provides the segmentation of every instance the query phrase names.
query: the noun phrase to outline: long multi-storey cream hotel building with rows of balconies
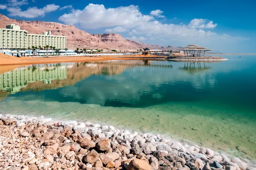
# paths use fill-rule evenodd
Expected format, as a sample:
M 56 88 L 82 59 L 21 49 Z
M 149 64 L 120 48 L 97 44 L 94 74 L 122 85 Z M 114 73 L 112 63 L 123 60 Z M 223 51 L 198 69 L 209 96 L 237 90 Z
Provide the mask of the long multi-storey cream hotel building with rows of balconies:
M 67 37 L 51 35 L 51 31 L 40 34 L 28 34 L 15 24 L 0 28 L 0 49 L 21 49 L 31 48 L 32 46 L 42 48 L 46 45 L 56 49 L 67 48 Z

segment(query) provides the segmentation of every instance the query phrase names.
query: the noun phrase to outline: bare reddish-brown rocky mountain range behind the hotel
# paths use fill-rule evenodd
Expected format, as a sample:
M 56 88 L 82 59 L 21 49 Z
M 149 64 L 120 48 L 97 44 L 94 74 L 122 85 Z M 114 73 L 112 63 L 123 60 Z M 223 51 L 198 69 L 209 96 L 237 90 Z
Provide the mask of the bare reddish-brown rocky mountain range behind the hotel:
M 0 14 L 0 28 L 8 24 L 16 24 L 29 34 L 42 34 L 50 30 L 52 35 L 63 35 L 67 37 L 67 48 L 101 48 L 105 50 L 137 50 L 142 48 L 174 50 L 173 46 L 147 45 L 145 43 L 125 40 L 120 34 L 89 34 L 75 26 L 44 21 L 15 20 Z

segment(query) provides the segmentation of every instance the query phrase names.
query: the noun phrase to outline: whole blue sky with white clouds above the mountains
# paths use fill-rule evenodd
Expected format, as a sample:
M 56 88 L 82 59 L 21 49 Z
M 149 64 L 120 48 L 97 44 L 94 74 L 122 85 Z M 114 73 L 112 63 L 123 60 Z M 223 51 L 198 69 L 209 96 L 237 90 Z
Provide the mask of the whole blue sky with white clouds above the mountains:
M 17 20 L 74 25 L 154 45 L 197 44 L 222 53 L 256 53 L 254 0 L 0 0 Z

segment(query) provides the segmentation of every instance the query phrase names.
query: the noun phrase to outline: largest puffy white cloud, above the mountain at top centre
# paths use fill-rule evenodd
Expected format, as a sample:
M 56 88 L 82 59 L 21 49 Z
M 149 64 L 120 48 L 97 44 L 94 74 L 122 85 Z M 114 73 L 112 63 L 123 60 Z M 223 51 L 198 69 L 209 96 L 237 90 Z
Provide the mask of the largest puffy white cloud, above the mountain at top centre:
M 59 17 L 65 24 L 76 25 L 81 28 L 102 28 L 122 26 L 134 28 L 154 17 L 140 13 L 138 6 L 120 6 L 118 8 L 105 8 L 104 5 L 90 3 L 83 10 L 73 10 L 69 14 Z

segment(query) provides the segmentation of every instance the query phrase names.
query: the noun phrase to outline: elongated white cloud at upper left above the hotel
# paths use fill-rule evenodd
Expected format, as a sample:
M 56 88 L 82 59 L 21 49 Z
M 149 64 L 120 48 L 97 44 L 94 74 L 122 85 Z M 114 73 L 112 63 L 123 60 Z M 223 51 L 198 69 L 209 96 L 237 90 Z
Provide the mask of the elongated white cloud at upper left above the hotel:
M 32 7 L 32 8 L 28 8 L 26 11 L 22 11 L 18 7 L 12 7 L 12 8 L 8 8 L 7 11 L 10 12 L 9 15 L 12 17 L 19 16 L 19 17 L 26 17 L 26 18 L 35 18 L 35 17 L 44 16 L 44 14 L 48 12 L 55 11 L 59 7 L 60 6 L 56 6 L 55 4 L 49 4 L 44 8 Z

